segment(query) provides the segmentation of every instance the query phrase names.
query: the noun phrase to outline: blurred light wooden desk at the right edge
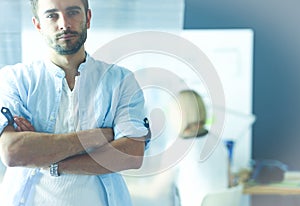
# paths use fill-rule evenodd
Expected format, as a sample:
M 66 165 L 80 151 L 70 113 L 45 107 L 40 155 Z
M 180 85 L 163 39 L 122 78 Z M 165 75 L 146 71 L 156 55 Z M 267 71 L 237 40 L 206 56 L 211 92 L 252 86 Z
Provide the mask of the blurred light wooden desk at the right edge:
M 244 194 L 249 195 L 300 195 L 300 172 L 286 172 L 280 183 L 256 184 L 246 183 Z

